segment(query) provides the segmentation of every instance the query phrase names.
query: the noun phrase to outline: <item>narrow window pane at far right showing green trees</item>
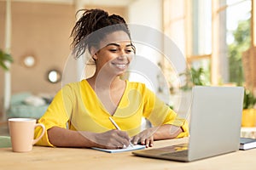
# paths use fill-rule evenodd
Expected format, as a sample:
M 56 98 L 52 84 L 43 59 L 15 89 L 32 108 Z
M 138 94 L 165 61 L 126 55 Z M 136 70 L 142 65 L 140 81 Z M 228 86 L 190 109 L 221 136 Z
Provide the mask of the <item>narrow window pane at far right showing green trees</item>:
M 243 85 L 245 81 L 242 53 L 251 45 L 251 1 L 227 1 L 227 37 L 229 81 Z M 243 69 L 244 68 L 244 69 Z

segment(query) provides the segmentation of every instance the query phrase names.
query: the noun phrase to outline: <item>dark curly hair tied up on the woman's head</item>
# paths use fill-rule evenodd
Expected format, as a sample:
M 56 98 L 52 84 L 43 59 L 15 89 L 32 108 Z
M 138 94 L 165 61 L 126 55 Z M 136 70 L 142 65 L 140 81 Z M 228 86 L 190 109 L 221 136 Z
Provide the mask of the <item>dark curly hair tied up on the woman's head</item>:
M 77 14 L 81 11 L 84 11 L 84 14 L 76 22 L 71 33 L 75 59 L 84 54 L 86 48 L 89 50 L 92 46 L 99 48 L 99 42 L 113 31 L 125 31 L 131 39 L 129 28 L 121 16 L 109 15 L 108 12 L 98 8 L 80 9 Z M 95 31 L 96 33 L 93 34 Z

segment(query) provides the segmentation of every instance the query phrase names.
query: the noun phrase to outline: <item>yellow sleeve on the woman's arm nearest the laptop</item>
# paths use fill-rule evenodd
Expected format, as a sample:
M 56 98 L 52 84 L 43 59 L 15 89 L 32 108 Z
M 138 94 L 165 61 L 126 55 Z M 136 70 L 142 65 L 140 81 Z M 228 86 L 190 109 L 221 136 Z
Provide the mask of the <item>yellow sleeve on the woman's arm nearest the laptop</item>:
M 180 133 L 177 138 L 189 136 L 189 126 L 185 119 L 178 117 L 175 111 L 172 111 L 150 90 L 146 90 L 145 96 L 147 98 L 145 99 L 144 116 L 153 126 L 172 124 L 183 129 L 183 133 Z

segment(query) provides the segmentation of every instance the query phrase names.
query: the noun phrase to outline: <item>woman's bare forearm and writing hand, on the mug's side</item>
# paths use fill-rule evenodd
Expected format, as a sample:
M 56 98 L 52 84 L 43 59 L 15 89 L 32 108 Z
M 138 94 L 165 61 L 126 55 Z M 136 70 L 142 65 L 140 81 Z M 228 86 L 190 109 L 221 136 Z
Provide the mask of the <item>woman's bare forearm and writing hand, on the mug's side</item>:
M 106 133 L 73 131 L 61 127 L 51 127 L 47 131 L 49 142 L 61 147 L 100 147 L 107 149 L 124 148 L 130 138 L 124 131 L 110 130 Z

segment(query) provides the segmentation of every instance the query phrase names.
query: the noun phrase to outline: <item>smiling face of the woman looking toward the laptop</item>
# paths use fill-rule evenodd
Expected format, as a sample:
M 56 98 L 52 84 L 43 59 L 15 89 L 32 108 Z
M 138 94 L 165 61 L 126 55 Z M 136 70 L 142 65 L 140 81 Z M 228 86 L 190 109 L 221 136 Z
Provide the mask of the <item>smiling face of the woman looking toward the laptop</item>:
M 128 68 L 134 53 L 134 47 L 125 31 L 114 31 L 100 42 L 100 49 L 94 56 L 96 68 L 98 71 L 104 68 L 104 71 L 121 75 Z

